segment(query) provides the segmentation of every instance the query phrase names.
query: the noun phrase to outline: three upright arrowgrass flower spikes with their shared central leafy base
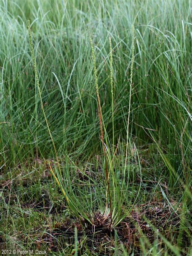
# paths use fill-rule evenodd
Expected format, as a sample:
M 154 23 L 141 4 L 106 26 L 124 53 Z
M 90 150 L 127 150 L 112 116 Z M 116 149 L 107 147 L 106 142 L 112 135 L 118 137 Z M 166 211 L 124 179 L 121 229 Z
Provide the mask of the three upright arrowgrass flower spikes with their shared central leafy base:
M 103 117 L 102 117 L 102 110 L 101 110 L 101 104 L 100 104 L 100 95 L 99 95 L 99 88 L 98 88 L 98 78 L 97 78 L 97 68 L 96 68 L 96 56 L 94 53 L 94 46 L 92 42 L 92 38 L 90 38 L 91 48 L 92 48 L 92 60 L 93 60 L 93 66 L 94 66 L 94 80 L 95 80 L 95 87 L 96 87 L 96 97 L 98 102 L 98 117 L 99 117 L 99 123 L 100 123 L 100 134 L 101 134 L 101 141 L 102 141 L 102 149 L 105 156 L 105 178 L 107 183 L 107 191 L 109 195 L 109 205 L 110 205 L 110 225 L 112 225 L 113 221 L 113 215 L 114 215 L 114 223 L 113 226 L 116 226 L 121 220 L 124 219 L 124 217 L 128 214 L 128 212 L 131 210 L 132 207 L 128 208 L 127 211 L 124 211 L 122 213 L 122 206 L 123 202 L 125 201 L 125 197 L 122 194 L 123 191 L 128 190 L 128 185 L 125 183 L 125 177 L 126 177 L 126 171 L 128 172 L 128 179 L 129 179 L 129 172 L 130 167 L 127 166 L 127 158 L 128 158 L 128 128 L 129 128 L 129 118 L 130 118 L 130 105 L 131 105 L 131 90 L 132 90 L 132 77 L 133 77 L 133 64 L 134 64 L 134 41 L 135 41 L 135 35 L 134 35 L 134 26 L 132 26 L 132 53 L 131 53 L 131 65 L 130 65 L 130 96 L 129 96 L 129 113 L 128 113 L 128 123 L 127 123 L 127 141 L 126 141 L 126 153 L 125 153 L 125 161 L 123 160 L 124 164 L 124 172 L 122 177 L 119 179 L 117 178 L 117 175 L 114 172 L 115 165 L 113 164 L 113 160 L 115 158 L 115 151 L 114 148 L 114 128 L 113 128 L 113 138 L 112 140 L 109 139 L 109 136 L 107 134 L 105 125 L 103 123 Z M 112 100 L 112 126 L 113 126 L 113 54 L 112 54 L 112 47 L 111 47 L 111 38 L 109 38 L 110 43 L 110 83 L 111 83 L 111 100 Z M 103 127 L 105 130 L 105 139 L 106 143 L 104 142 L 104 133 L 103 133 Z M 111 143 L 112 141 L 112 143 Z M 129 140 L 130 141 L 130 140 Z M 111 147 L 109 146 L 111 145 Z M 117 145 L 118 146 L 118 145 Z M 134 145 L 135 151 L 137 151 L 135 145 Z M 112 154 L 111 154 L 112 151 Z M 123 153 L 123 152 L 122 152 Z M 123 153 L 124 154 L 124 153 Z M 138 156 L 136 156 L 138 157 Z M 107 171 L 107 160 L 109 162 L 109 172 Z M 139 165 L 140 169 L 140 175 L 141 175 L 141 166 Z M 111 199 L 111 191 L 109 186 L 109 178 L 110 173 L 112 173 L 112 181 L 113 181 L 113 209 L 112 209 L 112 199 Z M 140 176 L 141 177 L 141 176 Z M 122 180 L 121 180 L 122 179 Z M 121 184 L 121 185 L 119 185 Z M 140 183 L 141 186 L 141 183 Z M 140 190 L 140 189 L 139 189 Z M 137 196 L 135 198 L 134 203 L 137 200 L 137 197 L 139 196 L 139 191 L 137 193 Z M 106 196 L 107 201 L 107 196 Z M 107 203 L 106 203 L 107 205 Z

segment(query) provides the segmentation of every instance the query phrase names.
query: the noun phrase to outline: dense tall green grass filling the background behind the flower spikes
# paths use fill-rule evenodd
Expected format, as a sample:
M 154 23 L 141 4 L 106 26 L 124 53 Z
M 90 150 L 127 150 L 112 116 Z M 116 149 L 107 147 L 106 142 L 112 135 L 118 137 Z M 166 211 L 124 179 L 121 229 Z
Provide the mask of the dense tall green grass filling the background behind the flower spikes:
M 137 144 L 142 145 L 143 141 L 152 142 L 145 128 L 154 130 L 154 138 L 173 168 L 180 172 L 183 158 L 189 166 L 190 122 L 182 136 L 183 157 L 178 140 L 190 112 L 189 2 L 156 1 L 152 5 L 145 2 L 140 9 L 139 2 L 129 6 L 125 1 L 108 1 L 100 2 L 102 8 L 98 12 L 95 7 L 99 2 L 94 1 L 85 3 L 82 9 L 78 1 L 71 4 L 28 2 L 28 6 L 19 3 L 18 0 L 1 2 L 4 17 L 1 21 L 1 148 L 8 166 L 33 157 L 38 149 L 44 156 L 49 156 L 53 149 L 30 67 L 26 17 L 34 20 L 34 45 L 38 48 L 34 54 L 42 100 L 58 154 L 62 155 L 63 148 L 77 157 L 82 152 L 94 155 L 93 148 L 99 152 L 87 26 L 90 30 L 95 28 L 95 43 L 99 49 L 100 97 L 105 99 L 103 119 L 107 132 L 111 137 L 115 128 L 114 144 L 118 142 L 119 133 L 126 136 L 124 113 L 129 112 L 126 90 L 130 75 L 127 60 L 130 59 L 130 24 L 135 19 L 136 65 L 130 132 L 137 138 Z M 48 10 L 51 11 L 46 14 Z M 109 20 L 104 27 L 102 21 Z M 114 118 L 109 104 L 110 74 L 106 71 L 110 70 L 109 36 L 114 51 Z

